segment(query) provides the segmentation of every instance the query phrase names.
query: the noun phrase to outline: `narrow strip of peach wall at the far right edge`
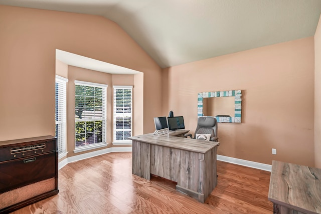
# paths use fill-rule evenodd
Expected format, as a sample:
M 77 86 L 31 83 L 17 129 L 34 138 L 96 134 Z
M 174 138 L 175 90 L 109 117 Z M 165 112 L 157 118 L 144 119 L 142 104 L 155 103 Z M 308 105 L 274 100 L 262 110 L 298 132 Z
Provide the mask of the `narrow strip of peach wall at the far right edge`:
M 321 20 L 321 18 L 320 18 Z M 314 35 L 314 164 L 321 168 L 321 21 Z

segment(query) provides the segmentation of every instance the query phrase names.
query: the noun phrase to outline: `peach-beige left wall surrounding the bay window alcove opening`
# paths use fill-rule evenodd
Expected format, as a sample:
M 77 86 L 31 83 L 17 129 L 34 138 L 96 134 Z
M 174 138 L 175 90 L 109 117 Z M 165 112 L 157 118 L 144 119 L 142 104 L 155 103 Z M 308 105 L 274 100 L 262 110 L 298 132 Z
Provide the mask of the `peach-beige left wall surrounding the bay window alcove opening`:
M 143 72 L 143 132 L 161 112 L 161 68 L 100 16 L 0 6 L 0 141 L 55 134 L 56 49 Z

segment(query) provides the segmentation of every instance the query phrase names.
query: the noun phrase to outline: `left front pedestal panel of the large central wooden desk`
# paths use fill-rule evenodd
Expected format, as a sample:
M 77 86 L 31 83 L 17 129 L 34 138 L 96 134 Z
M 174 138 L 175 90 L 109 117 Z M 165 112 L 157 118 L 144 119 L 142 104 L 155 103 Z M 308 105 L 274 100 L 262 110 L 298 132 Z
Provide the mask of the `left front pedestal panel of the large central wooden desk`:
M 131 173 L 150 180 L 150 144 L 132 141 Z

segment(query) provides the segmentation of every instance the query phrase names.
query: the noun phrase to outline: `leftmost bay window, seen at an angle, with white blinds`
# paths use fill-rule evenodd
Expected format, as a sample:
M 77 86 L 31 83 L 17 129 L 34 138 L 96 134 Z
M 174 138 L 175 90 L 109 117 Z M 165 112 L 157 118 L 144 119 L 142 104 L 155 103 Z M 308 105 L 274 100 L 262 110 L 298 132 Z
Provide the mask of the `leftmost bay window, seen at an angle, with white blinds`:
M 66 103 L 67 103 L 68 79 L 56 75 L 56 137 L 59 158 L 66 153 Z

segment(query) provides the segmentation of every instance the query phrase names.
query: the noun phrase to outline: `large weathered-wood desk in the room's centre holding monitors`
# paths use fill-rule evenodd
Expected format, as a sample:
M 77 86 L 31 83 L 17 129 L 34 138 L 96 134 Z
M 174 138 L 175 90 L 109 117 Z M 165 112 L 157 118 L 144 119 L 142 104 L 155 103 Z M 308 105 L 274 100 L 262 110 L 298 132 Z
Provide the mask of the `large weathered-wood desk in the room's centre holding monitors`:
M 132 140 L 132 173 L 150 174 L 177 182 L 176 189 L 204 203 L 217 185 L 216 152 L 219 142 L 144 134 Z M 179 134 L 180 135 L 180 134 Z

